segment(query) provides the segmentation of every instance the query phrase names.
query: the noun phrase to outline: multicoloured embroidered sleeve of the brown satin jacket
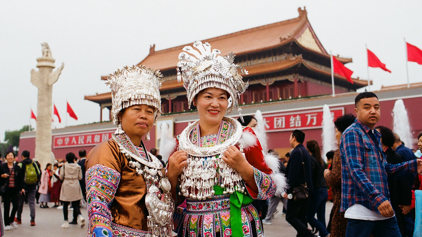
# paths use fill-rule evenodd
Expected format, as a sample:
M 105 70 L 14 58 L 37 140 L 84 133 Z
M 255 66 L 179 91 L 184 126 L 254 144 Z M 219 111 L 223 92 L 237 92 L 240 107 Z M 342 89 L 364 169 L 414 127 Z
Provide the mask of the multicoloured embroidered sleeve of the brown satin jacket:
M 96 164 L 86 172 L 88 236 L 112 236 L 110 205 L 120 181 L 120 173 Z

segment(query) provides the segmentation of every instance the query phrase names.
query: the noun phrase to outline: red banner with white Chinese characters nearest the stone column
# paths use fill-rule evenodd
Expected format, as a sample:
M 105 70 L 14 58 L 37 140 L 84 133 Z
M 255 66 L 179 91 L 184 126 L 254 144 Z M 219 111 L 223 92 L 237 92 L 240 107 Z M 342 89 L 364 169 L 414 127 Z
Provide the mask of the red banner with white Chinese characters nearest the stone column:
M 99 131 L 90 133 L 74 133 L 53 136 L 53 148 L 66 148 L 75 146 L 97 145 L 111 138 L 112 131 Z

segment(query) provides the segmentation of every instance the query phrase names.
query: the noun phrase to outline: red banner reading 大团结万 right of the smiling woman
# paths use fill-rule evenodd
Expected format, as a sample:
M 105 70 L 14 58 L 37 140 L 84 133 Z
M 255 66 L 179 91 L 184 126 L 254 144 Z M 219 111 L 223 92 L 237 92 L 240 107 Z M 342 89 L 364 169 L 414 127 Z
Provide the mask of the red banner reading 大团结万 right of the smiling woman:
M 334 119 L 344 114 L 344 108 L 333 108 L 330 111 Z M 322 127 L 322 109 L 263 115 L 263 117 L 267 132 L 316 129 Z

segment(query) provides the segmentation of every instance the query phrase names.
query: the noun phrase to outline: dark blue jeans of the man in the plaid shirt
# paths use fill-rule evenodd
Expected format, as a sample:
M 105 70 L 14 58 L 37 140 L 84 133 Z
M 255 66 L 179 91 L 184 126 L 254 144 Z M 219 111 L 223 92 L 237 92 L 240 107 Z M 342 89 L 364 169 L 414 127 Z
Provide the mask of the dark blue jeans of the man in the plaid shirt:
M 349 219 L 346 237 L 398 237 L 401 236 L 395 216 L 381 221 Z

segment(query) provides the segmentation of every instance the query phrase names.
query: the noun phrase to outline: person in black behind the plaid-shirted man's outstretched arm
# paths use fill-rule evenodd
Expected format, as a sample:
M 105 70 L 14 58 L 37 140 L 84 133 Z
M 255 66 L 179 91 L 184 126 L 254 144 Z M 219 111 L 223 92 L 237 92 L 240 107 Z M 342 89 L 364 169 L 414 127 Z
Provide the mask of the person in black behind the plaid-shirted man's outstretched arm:
M 399 164 L 405 162 L 406 160 L 403 159 L 403 156 L 392 149 L 392 146 L 395 143 L 395 137 L 391 129 L 384 126 L 378 126 L 375 129 L 381 132 L 381 144 L 382 149 L 387 155 L 387 163 Z M 405 217 L 401 212 L 399 205 L 411 204 L 411 188 L 413 183 L 409 183 L 406 177 L 397 179 L 390 176 L 387 178 L 387 182 L 388 189 L 390 191 L 390 202 L 397 218 L 398 229 L 400 230 L 401 236 L 407 236 Z

